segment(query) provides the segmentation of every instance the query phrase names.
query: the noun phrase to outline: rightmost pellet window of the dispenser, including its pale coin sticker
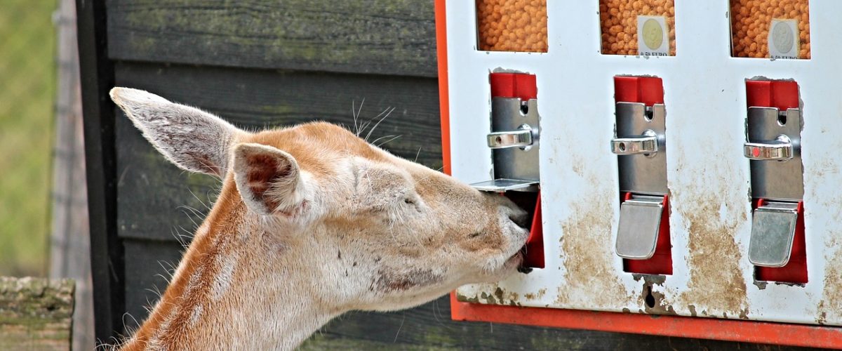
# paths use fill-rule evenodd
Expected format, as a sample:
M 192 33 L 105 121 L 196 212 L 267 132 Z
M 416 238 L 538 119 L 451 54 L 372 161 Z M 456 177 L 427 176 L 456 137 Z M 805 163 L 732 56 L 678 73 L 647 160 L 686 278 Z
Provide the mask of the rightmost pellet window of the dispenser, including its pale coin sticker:
M 731 55 L 810 58 L 808 0 L 731 0 Z

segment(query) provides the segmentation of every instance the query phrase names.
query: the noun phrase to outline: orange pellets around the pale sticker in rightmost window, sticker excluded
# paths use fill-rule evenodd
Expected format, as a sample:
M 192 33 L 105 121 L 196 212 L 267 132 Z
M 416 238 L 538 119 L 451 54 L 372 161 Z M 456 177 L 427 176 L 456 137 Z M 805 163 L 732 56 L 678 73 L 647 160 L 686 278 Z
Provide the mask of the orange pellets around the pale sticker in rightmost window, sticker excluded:
M 810 58 L 810 13 L 807 0 L 731 0 L 731 47 L 734 57 L 769 57 L 772 19 L 795 19 L 798 57 Z

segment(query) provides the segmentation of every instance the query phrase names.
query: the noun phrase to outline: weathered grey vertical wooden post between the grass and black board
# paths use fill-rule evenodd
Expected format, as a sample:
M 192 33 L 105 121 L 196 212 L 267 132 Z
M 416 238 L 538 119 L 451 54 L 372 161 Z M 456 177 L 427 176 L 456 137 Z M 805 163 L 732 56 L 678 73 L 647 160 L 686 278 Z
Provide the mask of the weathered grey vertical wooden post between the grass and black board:
M 76 3 L 60 0 L 53 20 L 58 35 L 58 88 L 56 143 L 53 146 L 50 278 L 76 280 L 73 349 L 91 350 L 95 347 L 93 298 Z

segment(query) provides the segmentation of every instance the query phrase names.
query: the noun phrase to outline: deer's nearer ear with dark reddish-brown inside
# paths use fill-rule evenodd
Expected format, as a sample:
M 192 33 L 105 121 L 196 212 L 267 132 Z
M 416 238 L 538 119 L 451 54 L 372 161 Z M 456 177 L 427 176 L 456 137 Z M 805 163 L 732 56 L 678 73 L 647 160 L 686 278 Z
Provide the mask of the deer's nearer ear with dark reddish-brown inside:
M 303 208 L 304 182 L 296 158 L 272 146 L 234 148 L 234 181 L 242 200 L 260 215 L 296 215 Z

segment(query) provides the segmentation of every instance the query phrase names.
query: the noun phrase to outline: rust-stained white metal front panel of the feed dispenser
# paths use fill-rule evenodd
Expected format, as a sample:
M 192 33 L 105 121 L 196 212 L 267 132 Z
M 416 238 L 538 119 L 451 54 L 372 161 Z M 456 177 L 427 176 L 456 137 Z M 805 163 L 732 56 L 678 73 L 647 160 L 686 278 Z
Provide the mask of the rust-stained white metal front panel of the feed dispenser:
M 537 75 L 546 269 L 457 294 L 480 303 L 842 325 L 842 3 L 812 0 L 811 60 L 732 58 L 728 2 L 675 2 L 676 56 L 600 54 L 597 0 L 547 2 L 547 53 L 477 51 L 474 2 L 446 7 L 456 178 L 491 178 L 488 73 Z M 663 78 L 674 273 L 622 270 L 613 77 Z M 754 282 L 746 78 L 797 80 L 809 283 Z M 652 286 L 658 306 L 645 306 Z

